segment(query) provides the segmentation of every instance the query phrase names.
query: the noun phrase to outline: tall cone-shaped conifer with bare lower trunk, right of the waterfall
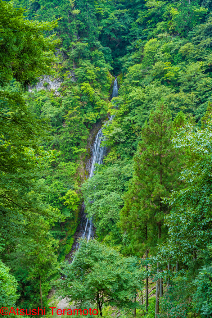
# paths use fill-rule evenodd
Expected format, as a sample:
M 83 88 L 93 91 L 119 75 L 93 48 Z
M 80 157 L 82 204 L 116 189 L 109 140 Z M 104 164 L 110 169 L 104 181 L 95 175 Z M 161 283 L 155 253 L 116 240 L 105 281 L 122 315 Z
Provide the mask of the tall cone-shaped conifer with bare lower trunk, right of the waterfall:
M 153 247 L 166 238 L 163 220 L 168 207 L 162 203 L 162 197 L 180 187 L 178 177 L 182 156 L 172 147 L 173 136 L 171 111 L 161 102 L 141 130 L 142 141 L 134 156 L 133 181 L 120 216 L 122 230 L 128 232 L 131 250 L 140 256 L 146 252 L 146 258 L 149 250 L 154 253 Z M 148 277 L 146 285 L 148 294 Z M 159 297 L 159 286 L 157 290 Z M 148 297 L 146 302 L 148 304 Z M 158 310 L 157 299 L 156 313 Z

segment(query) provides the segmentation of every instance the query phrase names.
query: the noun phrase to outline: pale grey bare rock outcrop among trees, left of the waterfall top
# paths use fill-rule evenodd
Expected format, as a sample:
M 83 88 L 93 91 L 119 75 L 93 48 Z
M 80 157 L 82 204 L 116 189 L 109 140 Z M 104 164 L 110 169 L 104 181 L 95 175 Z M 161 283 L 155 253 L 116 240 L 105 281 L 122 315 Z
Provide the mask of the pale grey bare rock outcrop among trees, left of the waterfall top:
M 31 93 L 32 89 L 36 89 L 40 91 L 41 89 L 47 89 L 48 91 L 54 90 L 55 95 L 60 95 L 58 92 L 58 88 L 62 83 L 62 79 L 59 78 L 51 78 L 50 76 L 44 75 L 43 79 L 41 79 L 36 85 L 29 86 L 29 92 Z

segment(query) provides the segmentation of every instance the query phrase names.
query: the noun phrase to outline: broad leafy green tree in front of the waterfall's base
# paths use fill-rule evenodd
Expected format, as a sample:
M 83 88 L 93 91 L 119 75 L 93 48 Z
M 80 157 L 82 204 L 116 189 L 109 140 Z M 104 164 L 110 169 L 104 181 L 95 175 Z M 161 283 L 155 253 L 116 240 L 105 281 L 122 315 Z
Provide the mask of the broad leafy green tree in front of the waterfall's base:
M 144 278 L 144 272 L 136 265 L 134 257 L 125 258 L 94 239 L 81 239 L 72 263 L 62 264 L 65 280 L 58 282 L 58 296 L 77 301 L 79 308 L 85 308 L 87 303 L 95 308 L 98 305 L 100 311 L 104 304 L 133 308 L 133 294 L 143 285 Z

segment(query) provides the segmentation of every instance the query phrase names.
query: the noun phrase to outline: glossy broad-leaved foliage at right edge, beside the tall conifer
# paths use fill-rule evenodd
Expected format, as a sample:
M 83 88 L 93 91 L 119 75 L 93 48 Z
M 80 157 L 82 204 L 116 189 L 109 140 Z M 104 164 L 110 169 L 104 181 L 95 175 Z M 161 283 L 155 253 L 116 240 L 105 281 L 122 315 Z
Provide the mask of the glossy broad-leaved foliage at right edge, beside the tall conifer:
M 193 258 L 193 251 L 204 248 L 210 242 L 211 138 L 211 122 L 208 122 L 204 130 L 191 124 L 184 125 L 173 139 L 175 148 L 187 149 L 196 160 L 181 173 L 180 179 L 187 188 L 174 191 L 168 199 L 164 199 L 171 212 L 165 221 L 169 238 L 167 245 L 160 247 L 160 260 L 172 257 L 187 263 Z

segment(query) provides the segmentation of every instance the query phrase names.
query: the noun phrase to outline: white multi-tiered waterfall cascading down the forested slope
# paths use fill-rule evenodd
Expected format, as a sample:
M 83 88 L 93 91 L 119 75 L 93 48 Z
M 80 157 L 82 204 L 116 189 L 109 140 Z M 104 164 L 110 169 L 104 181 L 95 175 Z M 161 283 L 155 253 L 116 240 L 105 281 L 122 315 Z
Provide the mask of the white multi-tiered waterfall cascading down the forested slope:
M 115 78 L 114 83 L 113 83 L 113 93 L 112 93 L 112 98 L 113 97 L 117 97 L 118 96 L 118 83 L 117 83 L 117 78 Z M 110 121 L 112 121 L 113 119 L 113 115 L 110 116 Z M 98 131 L 96 138 L 95 138 L 95 142 L 93 145 L 93 156 L 92 156 L 92 165 L 91 165 L 91 172 L 89 174 L 89 178 L 91 178 L 93 176 L 94 170 L 95 170 L 95 163 L 98 164 L 102 164 L 102 159 L 103 156 L 106 154 L 106 147 L 100 147 L 101 141 L 105 140 L 106 137 L 103 137 L 103 130 L 104 126 Z M 91 237 L 91 232 L 92 232 L 92 219 L 88 220 L 87 218 L 87 222 L 85 225 L 85 232 L 83 233 L 83 238 L 85 237 L 85 233 L 87 230 L 87 226 L 88 226 L 88 221 L 89 221 L 89 230 L 88 230 L 88 241 Z

